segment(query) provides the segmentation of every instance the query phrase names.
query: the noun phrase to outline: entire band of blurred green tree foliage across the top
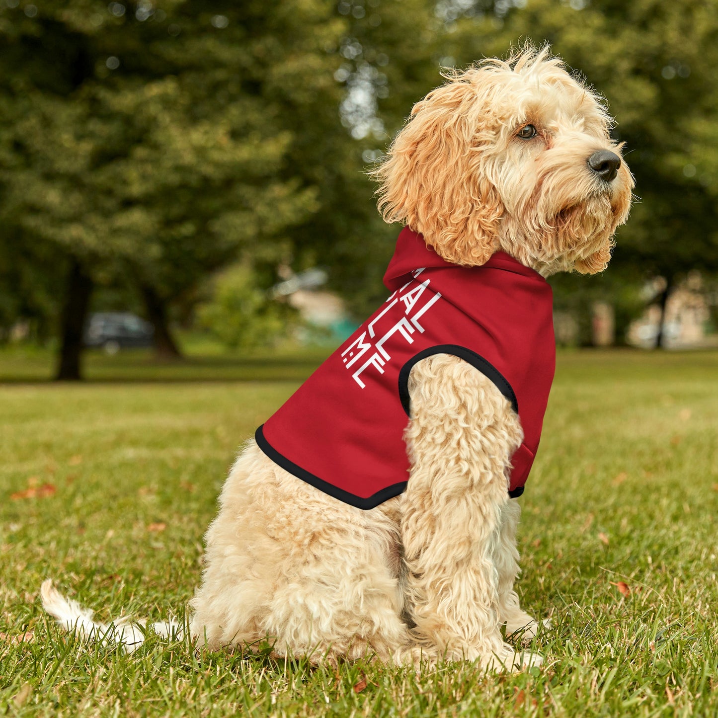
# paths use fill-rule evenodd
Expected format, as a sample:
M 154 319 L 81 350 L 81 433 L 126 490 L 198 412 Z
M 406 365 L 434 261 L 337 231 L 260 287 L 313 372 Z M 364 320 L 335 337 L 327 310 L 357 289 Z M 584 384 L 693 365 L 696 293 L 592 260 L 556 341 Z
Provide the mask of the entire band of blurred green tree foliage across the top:
M 718 272 L 718 0 L 11 5 L 0 4 L 0 325 L 50 327 L 72 258 L 95 282 L 150 285 L 185 315 L 238 256 L 263 284 L 280 262 L 320 264 L 362 317 L 383 295 L 397 229 L 365 170 L 439 84 L 439 64 L 526 37 L 551 42 L 618 118 L 640 201 L 610 271 L 633 286 Z M 566 297 L 582 291 L 572 281 L 559 281 Z M 612 286 L 599 294 L 616 299 Z

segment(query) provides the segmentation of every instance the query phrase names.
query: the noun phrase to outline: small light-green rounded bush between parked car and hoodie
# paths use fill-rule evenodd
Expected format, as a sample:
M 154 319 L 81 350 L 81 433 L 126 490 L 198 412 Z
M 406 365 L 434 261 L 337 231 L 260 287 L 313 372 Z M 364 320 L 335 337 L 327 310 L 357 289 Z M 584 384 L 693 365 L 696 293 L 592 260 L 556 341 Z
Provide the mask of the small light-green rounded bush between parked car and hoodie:
M 257 285 L 247 264 L 226 269 L 213 285 L 213 296 L 197 307 L 197 317 L 229 349 L 274 345 L 297 322 L 292 307 L 271 299 Z

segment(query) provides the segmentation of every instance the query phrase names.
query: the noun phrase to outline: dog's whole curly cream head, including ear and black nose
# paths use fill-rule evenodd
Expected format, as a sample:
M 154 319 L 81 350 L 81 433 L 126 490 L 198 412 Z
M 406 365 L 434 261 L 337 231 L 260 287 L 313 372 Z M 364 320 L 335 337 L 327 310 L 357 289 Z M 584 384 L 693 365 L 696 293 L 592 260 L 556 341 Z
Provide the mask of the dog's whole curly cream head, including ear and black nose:
M 373 172 L 384 219 L 456 264 L 503 249 L 546 275 L 605 269 L 633 177 L 600 98 L 530 45 L 447 77 Z

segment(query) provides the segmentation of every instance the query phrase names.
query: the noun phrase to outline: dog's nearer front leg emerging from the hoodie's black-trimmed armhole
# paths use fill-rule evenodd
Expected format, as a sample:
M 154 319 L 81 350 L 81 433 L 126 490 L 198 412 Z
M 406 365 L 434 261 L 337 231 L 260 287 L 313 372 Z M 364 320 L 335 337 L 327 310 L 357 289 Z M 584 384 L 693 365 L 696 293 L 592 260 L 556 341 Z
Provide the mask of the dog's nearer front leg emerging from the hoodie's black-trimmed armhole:
M 500 633 L 495 549 L 508 502 L 518 417 L 494 384 L 462 360 L 434 355 L 409 380 L 411 462 L 403 495 L 406 603 L 419 640 L 488 668 L 536 665 Z

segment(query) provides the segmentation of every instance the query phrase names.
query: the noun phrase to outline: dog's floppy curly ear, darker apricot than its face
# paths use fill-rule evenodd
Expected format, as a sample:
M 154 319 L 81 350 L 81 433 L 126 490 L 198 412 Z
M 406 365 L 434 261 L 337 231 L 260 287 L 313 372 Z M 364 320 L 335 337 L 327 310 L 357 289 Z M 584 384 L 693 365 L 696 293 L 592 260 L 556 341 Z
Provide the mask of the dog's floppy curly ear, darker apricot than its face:
M 487 177 L 477 113 L 480 70 L 416 103 L 372 172 L 386 222 L 403 222 L 454 264 L 485 264 L 498 250 L 503 205 Z

